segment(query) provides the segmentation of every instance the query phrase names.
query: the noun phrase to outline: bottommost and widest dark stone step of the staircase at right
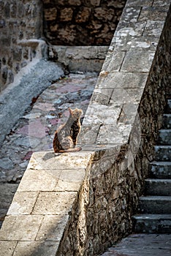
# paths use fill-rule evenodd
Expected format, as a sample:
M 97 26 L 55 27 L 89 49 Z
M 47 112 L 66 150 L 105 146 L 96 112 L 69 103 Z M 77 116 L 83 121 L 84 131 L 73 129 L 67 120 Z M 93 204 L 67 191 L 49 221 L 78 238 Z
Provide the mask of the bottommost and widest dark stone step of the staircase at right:
M 139 214 L 132 221 L 135 233 L 171 233 L 171 214 Z

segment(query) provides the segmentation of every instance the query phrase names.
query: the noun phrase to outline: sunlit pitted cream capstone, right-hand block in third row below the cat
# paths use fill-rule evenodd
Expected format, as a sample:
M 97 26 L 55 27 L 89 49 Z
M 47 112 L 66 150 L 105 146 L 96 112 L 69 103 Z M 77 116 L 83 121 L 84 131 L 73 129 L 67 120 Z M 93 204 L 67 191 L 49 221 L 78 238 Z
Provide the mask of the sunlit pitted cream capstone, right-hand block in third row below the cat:
M 69 214 L 76 199 L 77 192 L 40 192 L 33 214 Z

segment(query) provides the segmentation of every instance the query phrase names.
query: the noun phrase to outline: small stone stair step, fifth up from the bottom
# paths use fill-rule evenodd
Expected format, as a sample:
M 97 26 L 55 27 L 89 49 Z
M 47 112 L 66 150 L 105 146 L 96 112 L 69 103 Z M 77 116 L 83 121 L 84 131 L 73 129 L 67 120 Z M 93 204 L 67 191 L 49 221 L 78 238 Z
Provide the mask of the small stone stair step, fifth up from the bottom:
M 171 161 L 171 146 L 154 146 L 154 151 L 156 161 Z

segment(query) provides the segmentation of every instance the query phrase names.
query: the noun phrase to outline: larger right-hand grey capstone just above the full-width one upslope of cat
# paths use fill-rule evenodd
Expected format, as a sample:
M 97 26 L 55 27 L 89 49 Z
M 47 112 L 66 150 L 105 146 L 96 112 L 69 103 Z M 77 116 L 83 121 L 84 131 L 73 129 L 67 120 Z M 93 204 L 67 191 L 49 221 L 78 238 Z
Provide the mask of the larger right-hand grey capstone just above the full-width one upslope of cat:
M 155 51 L 129 50 L 121 67 L 121 72 L 149 72 Z

